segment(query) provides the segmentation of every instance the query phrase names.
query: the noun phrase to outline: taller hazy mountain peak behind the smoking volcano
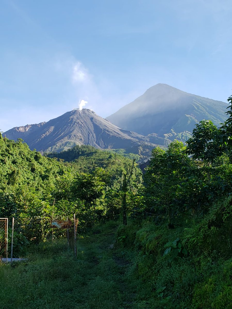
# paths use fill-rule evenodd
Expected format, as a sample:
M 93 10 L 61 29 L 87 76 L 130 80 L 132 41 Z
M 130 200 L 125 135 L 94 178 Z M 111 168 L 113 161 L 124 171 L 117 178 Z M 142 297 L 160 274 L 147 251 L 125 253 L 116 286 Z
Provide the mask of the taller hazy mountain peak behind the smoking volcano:
M 210 119 L 215 125 L 224 122 L 227 106 L 225 102 L 157 84 L 106 119 L 142 135 L 157 133 L 164 137 L 167 134 L 171 139 L 186 140 L 202 119 Z

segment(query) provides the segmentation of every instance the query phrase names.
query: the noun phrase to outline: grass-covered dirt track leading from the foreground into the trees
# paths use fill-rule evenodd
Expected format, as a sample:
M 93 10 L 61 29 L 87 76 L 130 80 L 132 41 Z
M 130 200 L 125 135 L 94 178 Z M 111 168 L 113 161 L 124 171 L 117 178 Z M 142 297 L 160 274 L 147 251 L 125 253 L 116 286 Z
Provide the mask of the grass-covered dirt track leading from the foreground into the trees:
M 97 280 L 96 289 L 104 290 L 101 294 L 102 306 L 98 304 L 96 308 L 143 308 L 137 307 L 136 293 L 127 282 L 130 262 L 123 256 L 122 249 L 115 248 L 115 233 L 116 228 L 79 240 L 79 255 L 83 254 L 84 261 L 89 265 L 86 289 Z

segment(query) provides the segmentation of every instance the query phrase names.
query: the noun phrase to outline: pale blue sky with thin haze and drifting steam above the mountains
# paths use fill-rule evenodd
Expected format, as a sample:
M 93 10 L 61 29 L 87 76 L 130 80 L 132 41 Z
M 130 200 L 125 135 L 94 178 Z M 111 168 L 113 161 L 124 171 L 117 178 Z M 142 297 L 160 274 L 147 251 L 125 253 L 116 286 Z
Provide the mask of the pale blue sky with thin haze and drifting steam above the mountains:
M 0 129 L 102 117 L 157 83 L 226 101 L 231 0 L 0 0 Z

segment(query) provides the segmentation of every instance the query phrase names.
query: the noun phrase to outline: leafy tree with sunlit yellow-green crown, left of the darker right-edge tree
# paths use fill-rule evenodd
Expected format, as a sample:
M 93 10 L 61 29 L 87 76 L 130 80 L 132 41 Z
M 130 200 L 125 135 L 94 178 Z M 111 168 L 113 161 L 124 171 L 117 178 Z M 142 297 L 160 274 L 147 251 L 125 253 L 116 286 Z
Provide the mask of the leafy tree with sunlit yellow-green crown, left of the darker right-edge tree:
M 144 176 L 145 203 L 150 213 L 159 218 L 167 217 L 169 227 L 173 226 L 174 213 L 186 209 L 183 203 L 178 203 L 180 187 L 195 169 L 182 142 L 175 140 L 166 152 L 159 147 L 152 151 Z

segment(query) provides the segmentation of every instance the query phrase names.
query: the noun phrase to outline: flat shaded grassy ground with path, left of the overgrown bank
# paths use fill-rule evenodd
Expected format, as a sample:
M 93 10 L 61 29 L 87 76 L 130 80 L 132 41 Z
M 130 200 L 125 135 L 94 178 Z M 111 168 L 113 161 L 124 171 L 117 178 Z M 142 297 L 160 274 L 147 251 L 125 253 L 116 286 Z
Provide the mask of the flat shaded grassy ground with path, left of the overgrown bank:
M 63 242 L 44 243 L 27 263 L 0 265 L 0 308 L 147 308 L 127 275 L 125 252 L 114 246 L 116 230 L 108 222 L 101 233 L 79 239 L 76 258 Z

